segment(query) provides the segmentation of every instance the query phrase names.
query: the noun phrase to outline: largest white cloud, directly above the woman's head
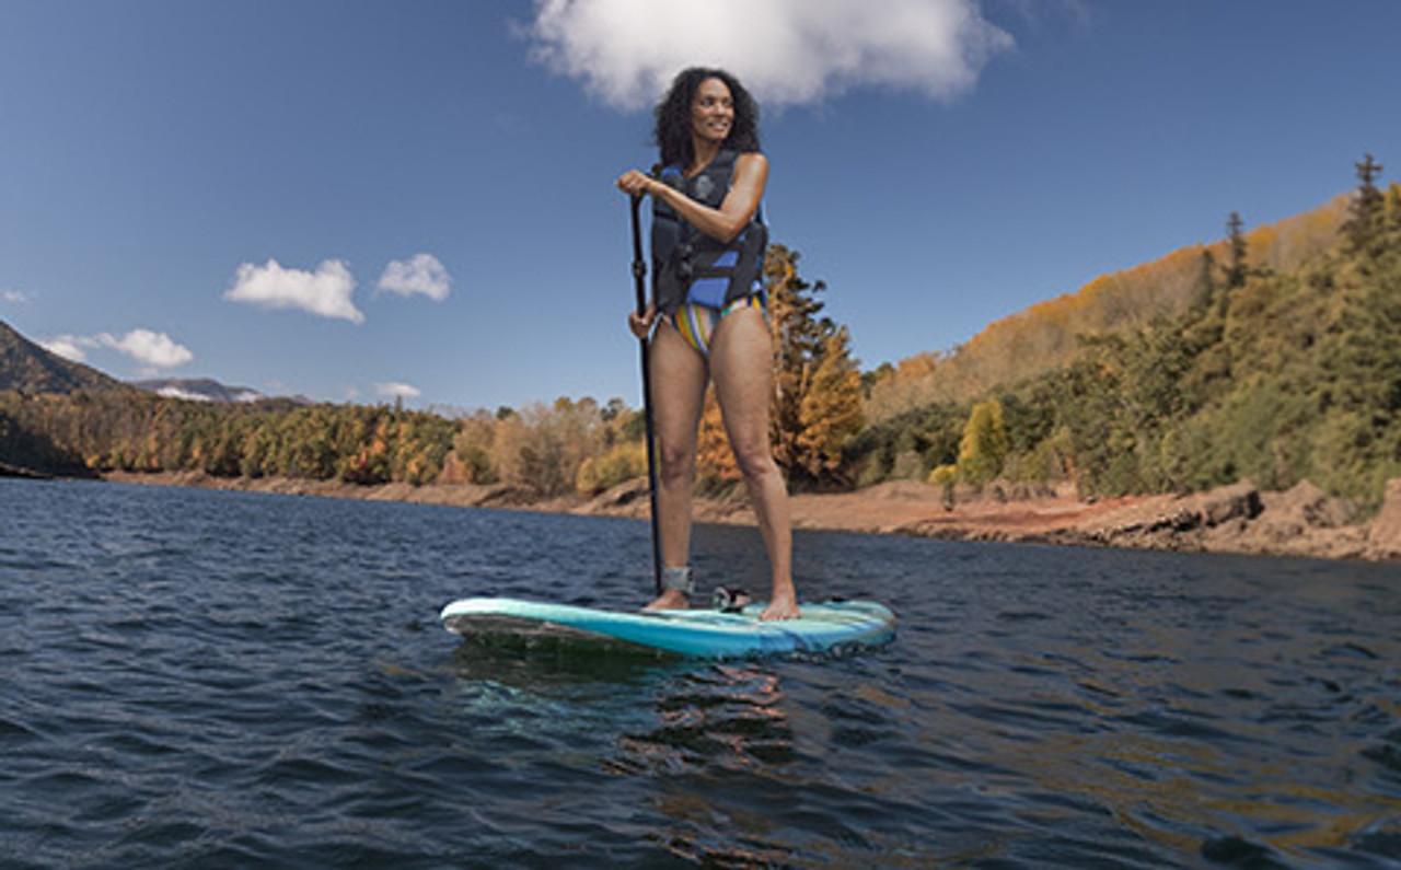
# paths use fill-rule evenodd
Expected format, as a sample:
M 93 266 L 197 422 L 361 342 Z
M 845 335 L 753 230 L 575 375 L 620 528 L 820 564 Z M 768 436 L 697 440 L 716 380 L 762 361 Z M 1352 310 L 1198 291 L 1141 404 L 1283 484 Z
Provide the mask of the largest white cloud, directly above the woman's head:
M 1012 36 L 976 0 L 544 0 L 531 56 L 609 105 L 650 105 L 688 66 L 720 66 L 768 104 L 857 87 L 951 99 Z

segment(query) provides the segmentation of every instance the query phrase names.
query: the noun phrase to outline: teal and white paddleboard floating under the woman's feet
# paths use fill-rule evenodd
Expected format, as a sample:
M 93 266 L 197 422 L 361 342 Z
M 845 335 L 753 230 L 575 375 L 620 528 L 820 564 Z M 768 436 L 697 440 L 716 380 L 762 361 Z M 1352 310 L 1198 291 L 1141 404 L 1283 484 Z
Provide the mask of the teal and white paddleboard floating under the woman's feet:
M 801 619 L 765 622 L 764 604 L 743 611 L 602 611 L 518 598 L 462 598 L 443 608 L 443 625 L 464 637 L 567 639 L 695 658 L 825 653 L 890 643 L 895 615 L 873 601 L 803 604 Z

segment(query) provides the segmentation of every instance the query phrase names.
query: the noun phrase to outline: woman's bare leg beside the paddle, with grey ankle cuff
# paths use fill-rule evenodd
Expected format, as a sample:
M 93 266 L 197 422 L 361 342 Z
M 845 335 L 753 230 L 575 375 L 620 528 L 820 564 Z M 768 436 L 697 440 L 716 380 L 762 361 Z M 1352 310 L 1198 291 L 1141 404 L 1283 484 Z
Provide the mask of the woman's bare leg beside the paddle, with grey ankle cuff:
M 657 523 L 661 563 L 685 567 L 691 558 L 691 492 L 696 433 L 709 377 L 705 357 L 671 324 L 660 324 L 649 347 L 651 415 L 657 429 Z M 688 607 L 685 593 L 663 590 L 644 609 Z

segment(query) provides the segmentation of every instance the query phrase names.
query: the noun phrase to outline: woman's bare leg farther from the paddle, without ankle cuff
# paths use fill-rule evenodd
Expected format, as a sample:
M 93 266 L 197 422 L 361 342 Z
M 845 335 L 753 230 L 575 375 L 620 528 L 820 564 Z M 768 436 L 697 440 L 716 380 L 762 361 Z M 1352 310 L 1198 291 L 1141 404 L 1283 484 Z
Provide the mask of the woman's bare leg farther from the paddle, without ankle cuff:
M 764 546 L 769 552 L 773 591 L 762 619 L 800 616 L 793 590 L 793 525 L 787 483 L 769 444 L 773 349 L 769 325 L 758 308 L 727 314 L 710 342 L 710 374 L 730 448 L 744 475 Z

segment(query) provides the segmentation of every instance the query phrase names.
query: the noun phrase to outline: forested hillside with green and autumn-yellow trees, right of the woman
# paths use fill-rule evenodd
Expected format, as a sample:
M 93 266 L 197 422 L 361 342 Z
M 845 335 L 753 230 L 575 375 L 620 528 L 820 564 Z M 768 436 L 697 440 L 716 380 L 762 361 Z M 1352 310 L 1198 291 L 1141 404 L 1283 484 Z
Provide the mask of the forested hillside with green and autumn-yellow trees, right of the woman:
M 1005 370 L 992 388 L 960 384 L 941 394 L 957 401 L 877 422 L 850 450 L 863 479 L 1072 481 L 1107 495 L 1313 479 L 1373 510 L 1401 476 L 1401 186 L 1379 191 L 1380 170 L 1358 164 L 1362 184 L 1334 220 L 1302 219 L 1313 255 L 1281 256 L 1297 220 L 1233 233 L 1223 254 L 1198 258 L 1181 312 L 1082 333 L 1061 367 Z M 1324 248 L 1316 231 L 1330 224 Z

